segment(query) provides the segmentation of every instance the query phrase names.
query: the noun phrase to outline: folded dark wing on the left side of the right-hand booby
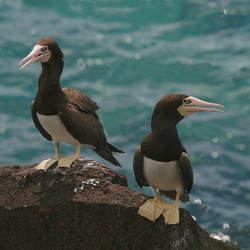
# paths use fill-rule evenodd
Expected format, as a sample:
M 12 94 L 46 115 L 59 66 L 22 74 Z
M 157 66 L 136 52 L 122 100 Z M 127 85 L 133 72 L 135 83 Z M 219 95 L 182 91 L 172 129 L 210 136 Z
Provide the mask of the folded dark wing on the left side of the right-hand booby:
M 138 185 L 140 187 L 148 186 L 148 183 L 145 180 L 144 175 L 143 175 L 143 155 L 142 155 L 140 146 L 138 146 L 135 151 L 133 169 L 134 169 L 135 179 Z

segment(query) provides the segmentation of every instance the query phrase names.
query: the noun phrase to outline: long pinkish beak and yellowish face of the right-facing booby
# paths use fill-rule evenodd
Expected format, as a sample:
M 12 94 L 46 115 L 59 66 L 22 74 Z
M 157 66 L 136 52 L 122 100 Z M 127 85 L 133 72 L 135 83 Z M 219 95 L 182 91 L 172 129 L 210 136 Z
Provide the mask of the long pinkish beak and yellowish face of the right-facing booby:
M 210 112 L 223 112 L 221 109 L 208 108 L 208 107 L 220 107 L 223 105 L 218 103 L 205 102 L 196 97 L 189 96 L 185 99 L 185 102 L 177 109 L 182 116 L 191 115 L 193 113 L 210 111 Z

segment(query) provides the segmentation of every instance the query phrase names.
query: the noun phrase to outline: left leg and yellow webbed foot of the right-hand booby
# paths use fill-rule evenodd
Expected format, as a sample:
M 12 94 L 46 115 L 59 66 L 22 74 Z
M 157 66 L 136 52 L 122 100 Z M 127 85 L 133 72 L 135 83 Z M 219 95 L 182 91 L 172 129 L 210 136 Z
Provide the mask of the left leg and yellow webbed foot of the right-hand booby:
M 168 206 L 167 202 L 160 197 L 155 187 L 152 187 L 154 198 L 147 200 L 139 209 L 138 214 L 151 221 L 155 221 Z

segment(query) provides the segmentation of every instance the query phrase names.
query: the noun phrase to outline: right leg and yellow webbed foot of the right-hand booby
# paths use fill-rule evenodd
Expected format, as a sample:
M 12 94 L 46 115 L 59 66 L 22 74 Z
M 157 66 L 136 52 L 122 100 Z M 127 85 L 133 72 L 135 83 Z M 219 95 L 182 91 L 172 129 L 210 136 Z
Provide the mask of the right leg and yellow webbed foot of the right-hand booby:
M 176 192 L 176 199 L 173 204 L 168 204 L 168 207 L 165 208 L 165 211 L 162 215 L 165 218 L 165 224 L 178 224 L 180 219 L 179 215 L 179 199 L 180 193 Z

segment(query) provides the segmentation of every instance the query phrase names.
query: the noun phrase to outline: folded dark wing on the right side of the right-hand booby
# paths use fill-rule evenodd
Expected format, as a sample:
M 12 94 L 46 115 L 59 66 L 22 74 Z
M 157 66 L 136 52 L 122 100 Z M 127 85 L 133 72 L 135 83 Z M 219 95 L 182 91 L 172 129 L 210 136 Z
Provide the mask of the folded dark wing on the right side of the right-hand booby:
M 191 166 L 191 162 L 186 152 L 182 152 L 179 160 L 178 166 L 181 170 L 181 177 L 183 181 L 184 189 L 190 193 L 193 187 L 193 170 Z

